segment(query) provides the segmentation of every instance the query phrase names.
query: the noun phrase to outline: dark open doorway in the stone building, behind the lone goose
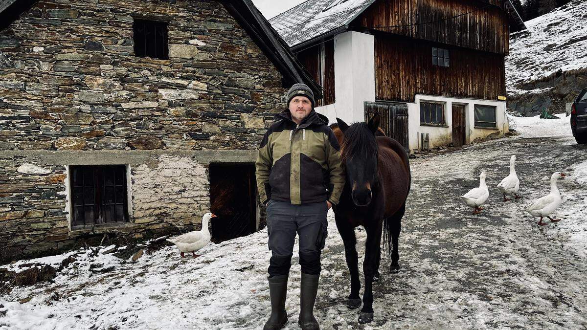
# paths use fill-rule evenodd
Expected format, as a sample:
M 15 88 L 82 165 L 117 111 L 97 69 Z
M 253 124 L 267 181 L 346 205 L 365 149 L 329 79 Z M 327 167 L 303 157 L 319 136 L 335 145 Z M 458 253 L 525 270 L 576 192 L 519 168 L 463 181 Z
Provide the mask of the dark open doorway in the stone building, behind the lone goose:
M 210 164 L 212 241 L 219 243 L 257 230 L 254 164 Z

